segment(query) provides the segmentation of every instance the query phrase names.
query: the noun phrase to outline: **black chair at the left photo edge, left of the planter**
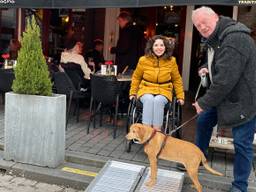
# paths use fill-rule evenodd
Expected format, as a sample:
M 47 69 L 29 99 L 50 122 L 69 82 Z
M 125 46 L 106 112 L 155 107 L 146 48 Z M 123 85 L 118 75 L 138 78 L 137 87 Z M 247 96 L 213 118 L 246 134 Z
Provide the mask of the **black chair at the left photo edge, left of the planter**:
M 2 94 L 2 102 L 5 101 L 5 93 L 12 91 L 12 82 L 15 78 L 13 70 L 0 69 L 0 93 Z

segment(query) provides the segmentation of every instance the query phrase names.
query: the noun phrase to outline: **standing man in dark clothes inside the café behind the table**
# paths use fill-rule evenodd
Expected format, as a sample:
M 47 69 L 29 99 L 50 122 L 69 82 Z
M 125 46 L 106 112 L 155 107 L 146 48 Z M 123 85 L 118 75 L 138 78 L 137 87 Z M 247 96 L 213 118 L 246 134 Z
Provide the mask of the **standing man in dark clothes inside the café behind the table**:
M 110 52 L 116 54 L 117 71 L 121 73 L 127 67 L 136 68 L 139 57 L 144 55 L 145 41 L 143 32 L 132 24 L 129 12 L 122 11 L 117 21 L 120 26 L 119 39 Z

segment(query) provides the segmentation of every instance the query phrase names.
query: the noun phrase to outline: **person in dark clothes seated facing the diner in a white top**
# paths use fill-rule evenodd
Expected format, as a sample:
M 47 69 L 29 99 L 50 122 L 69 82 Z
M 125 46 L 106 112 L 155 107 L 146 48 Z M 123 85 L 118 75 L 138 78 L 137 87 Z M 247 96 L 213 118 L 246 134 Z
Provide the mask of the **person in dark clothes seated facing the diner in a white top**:
M 93 41 L 94 48 L 86 54 L 86 60 L 89 61 L 91 59 L 95 64 L 95 72 L 101 69 L 101 65 L 105 63 L 105 59 L 103 56 L 103 41 L 101 39 L 95 39 Z

